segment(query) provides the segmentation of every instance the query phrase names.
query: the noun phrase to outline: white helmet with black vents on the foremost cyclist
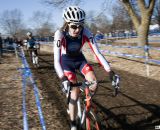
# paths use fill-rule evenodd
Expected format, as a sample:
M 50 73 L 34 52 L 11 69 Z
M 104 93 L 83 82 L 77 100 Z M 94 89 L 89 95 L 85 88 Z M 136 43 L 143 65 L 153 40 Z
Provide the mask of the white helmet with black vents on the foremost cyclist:
M 84 23 L 85 12 L 78 6 L 70 6 L 64 10 L 63 18 L 66 22 Z

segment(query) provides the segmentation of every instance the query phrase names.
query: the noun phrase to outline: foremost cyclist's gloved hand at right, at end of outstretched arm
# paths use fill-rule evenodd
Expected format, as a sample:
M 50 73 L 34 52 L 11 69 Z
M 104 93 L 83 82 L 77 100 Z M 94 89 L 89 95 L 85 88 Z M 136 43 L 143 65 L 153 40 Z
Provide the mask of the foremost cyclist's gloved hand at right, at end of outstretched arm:
M 115 74 L 114 71 L 110 71 L 109 76 L 112 82 L 112 86 L 114 87 L 119 86 L 120 76 Z

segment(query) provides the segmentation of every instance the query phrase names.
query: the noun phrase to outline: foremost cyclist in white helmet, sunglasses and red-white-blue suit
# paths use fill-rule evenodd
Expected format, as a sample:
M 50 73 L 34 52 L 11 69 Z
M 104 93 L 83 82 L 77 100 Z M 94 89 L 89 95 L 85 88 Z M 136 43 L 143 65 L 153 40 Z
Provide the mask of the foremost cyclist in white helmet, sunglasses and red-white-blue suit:
M 98 50 L 92 33 L 84 27 L 85 12 L 77 6 L 70 6 L 64 10 L 63 18 L 65 21 L 63 27 L 57 30 L 54 35 L 54 67 L 62 81 L 63 90 L 67 92 L 67 86 L 70 82 L 73 84 L 77 82 L 75 74 L 77 69 L 80 70 L 87 81 L 92 83 L 90 90 L 95 92 L 97 89 L 97 80 L 93 68 L 82 54 L 82 47 L 86 42 L 88 42 L 100 64 L 110 75 L 111 80 L 118 84 L 118 75 L 111 70 L 109 63 Z M 78 94 L 79 88 L 72 88 L 69 102 L 71 130 L 77 130 L 76 106 Z

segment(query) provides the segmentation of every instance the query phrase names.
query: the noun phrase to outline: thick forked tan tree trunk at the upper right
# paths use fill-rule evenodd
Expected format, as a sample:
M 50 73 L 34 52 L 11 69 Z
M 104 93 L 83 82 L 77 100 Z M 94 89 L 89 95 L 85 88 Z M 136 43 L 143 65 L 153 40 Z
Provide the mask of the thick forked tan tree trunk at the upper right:
M 135 3 L 132 4 L 132 2 L 134 2 L 133 0 L 120 1 L 124 4 L 124 7 L 130 15 L 134 27 L 138 33 L 138 45 L 148 45 L 149 25 L 151 22 L 151 16 L 155 0 L 149 0 L 148 2 L 146 2 L 145 0 L 137 0 L 137 5 L 140 11 L 140 17 L 139 15 L 137 15 L 136 10 L 134 10 Z

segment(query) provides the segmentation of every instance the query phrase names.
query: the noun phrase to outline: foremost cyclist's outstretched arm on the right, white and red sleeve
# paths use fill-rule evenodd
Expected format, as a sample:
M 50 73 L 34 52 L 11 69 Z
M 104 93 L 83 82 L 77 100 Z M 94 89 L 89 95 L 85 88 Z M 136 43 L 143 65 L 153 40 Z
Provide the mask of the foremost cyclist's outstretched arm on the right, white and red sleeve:
M 92 51 L 96 55 L 98 62 L 104 67 L 104 69 L 107 72 L 110 72 L 111 71 L 110 65 L 107 62 L 107 60 L 104 58 L 104 56 L 101 54 L 101 52 L 99 51 L 96 40 L 93 37 L 93 34 L 91 34 L 91 32 L 87 29 L 84 31 L 85 31 L 84 32 L 85 35 L 88 37 L 87 42 L 89 43 L 90 48 L 92 49 Z

